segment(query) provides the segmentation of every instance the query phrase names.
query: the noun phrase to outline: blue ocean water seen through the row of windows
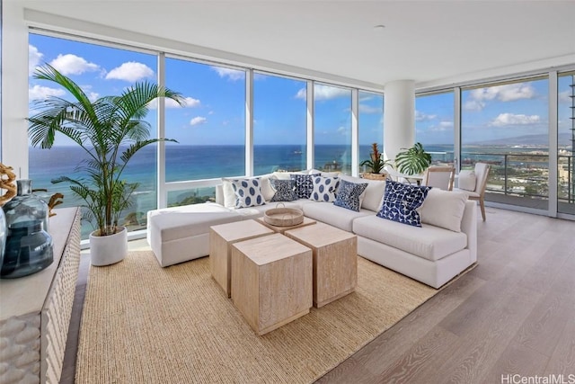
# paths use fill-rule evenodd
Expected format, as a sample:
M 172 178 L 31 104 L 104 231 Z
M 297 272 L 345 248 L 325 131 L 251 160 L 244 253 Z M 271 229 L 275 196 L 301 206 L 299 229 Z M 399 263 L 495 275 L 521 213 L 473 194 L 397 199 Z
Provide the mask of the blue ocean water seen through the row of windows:
M 359 158 L 369 156 L 371 146 L 360 146 Z M 464 158 L 470 160 L 489 160 L 490 156 L 474 156 L 474 153 L 500 153 L 505 148 L 473 147 L 466 149 Z M 509 149 L 509 148 L 507 148 Z M 254 174 L 268 174 L 276 170 L 296 171 L 306 168 L 305 146 L 276 145 L 254 146 Z M 433 154 L 434 160 L 453 161 L 453 146 L 426 146 Z M 515 150 L 519 152 L 520 150 Z M 156 147 L 148 146 L 137 152 L 123 173 L 129 183 L 139 183 L 133 195 L 134 204 L 131 211 L 137 212 L 140 219 L 145 219 L 146 211 L 155 209 L 156 204 Z M 52 147 L 51 149 L 30 148 L 30 178 L 34 189 L 48 189 L 50 194 L 61 192 L 64 202 L 59 207 L 77 206 L 77 200 L 65 183 L 53 184 L 51 180 L 62 175 L 81 177 L 77 165 L 85 161 L 84 150 L 79 147 Z M 492 156 L 493 161 L 500 156 Z M 336 166 L 344 173 L 351 173 L 351 153 L 349 147 L 325 145 L 315 147 L 314 168 L 326 169 Z M 166 145 L 166 182 L 210 179 L 217 177 L 243 175 L 245 155 L 243 146 L 185 146 Z M 195 191 L 171 192 L 168 205 L 177 205 L 179 201 L 190 197 L 213 195 L 213 188 Z M 84 226 L 85 227 L 85 226 Z M 89 233 L 91 226 L 83 228 L 83 234 Z

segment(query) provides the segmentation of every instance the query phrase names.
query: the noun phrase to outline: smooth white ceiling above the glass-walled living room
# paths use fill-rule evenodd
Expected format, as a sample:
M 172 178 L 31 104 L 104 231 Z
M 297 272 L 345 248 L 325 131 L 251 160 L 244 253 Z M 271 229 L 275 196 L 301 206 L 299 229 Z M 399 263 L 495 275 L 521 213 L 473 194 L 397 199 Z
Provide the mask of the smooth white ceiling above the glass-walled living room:
M 400 79 L 449 84 L 510 69 L 575 64 L 575 1 L 22 3 L 42 13 L 241 55 L 214 52 L 239 64 L 281 63 L 286 72 L 378 87 Z M 385 28 L 375 31 L 377 24 Z

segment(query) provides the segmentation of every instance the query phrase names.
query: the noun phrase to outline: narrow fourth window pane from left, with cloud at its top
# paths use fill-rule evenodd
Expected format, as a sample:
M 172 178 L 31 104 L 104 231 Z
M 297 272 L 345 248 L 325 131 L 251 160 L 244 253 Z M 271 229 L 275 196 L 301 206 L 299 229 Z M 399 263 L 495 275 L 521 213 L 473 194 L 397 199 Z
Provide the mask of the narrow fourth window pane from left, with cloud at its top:
M 314 168 L 351 174 L 349 88 L 314 84 L 314 155 Z

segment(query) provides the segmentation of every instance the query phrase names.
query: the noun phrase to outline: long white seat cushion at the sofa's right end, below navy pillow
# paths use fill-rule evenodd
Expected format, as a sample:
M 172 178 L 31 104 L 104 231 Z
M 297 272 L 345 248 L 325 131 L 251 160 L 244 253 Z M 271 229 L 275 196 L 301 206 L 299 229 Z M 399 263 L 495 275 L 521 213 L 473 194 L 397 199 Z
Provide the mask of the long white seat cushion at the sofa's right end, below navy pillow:
M 430 261 L 439 260 L 467 246 L 464 232 L 431 225 L 411 227 L 392 220 L 382 220 L 376 215 L 353 220 L 353 232 Z

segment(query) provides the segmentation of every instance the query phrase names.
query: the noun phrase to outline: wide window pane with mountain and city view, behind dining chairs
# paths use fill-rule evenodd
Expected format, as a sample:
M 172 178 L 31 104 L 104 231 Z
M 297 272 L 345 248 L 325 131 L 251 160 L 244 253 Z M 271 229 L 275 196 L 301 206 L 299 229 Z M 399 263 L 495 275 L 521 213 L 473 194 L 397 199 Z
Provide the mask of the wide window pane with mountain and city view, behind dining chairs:
M 548 92 L 547 77 L 462 91 L 461 167 L 491 164 L 487 201 L 548 209 Z

